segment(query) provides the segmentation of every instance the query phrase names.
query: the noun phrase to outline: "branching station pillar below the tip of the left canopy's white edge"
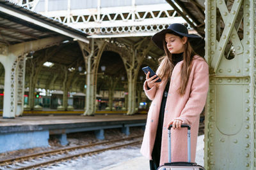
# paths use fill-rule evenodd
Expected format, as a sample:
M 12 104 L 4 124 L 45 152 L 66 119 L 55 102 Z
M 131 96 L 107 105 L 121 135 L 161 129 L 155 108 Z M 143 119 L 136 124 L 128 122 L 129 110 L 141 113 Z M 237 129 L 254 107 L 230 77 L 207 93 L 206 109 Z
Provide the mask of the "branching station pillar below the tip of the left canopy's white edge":
M 97 71 L 100 57 L 106 46 L 102 39 L 90 39 L 90 44 L 78 41 L 82 50 L 86 68 L 86 103 L 84 115 L 92 116 L 95 113 L 95 100 L 97 90 Z

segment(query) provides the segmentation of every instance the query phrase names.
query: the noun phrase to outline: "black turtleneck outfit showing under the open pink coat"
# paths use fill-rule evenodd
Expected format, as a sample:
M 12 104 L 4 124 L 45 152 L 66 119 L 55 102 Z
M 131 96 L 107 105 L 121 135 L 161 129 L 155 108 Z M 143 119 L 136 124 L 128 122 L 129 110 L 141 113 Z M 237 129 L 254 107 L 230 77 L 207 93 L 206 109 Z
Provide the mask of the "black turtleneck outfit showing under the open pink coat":
M 183 60 L 183 53 L 173 53 L 173 64 L 176 66 L 176 64 Z M 154 148 L 152 151 L 152 159 L 155 164 L 159 166 L 160 162 L 160 155 L 161 155 L 161 142 L 162 142 L 162 132 L 163 132 L 163 122 L 164 122 L 164 108 L 166 105 L 166 99 L 168 96 L 168 91 L 170 87 L 170 80 L 168 80 L 166 87 L 164 89 L 163 98 L 161 101 L 161 108 L 159 112 L 159 120 L 157 125 L 157 132 L 156 132 L 156 140 L 154 144 Z

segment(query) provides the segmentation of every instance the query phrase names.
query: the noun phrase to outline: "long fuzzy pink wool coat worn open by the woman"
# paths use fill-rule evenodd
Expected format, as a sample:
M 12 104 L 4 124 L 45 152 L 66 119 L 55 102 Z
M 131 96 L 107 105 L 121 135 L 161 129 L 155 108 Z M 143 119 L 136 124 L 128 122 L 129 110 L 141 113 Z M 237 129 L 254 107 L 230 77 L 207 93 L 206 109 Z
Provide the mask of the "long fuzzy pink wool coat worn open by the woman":
M 180 96 L 177 89 L 180 87 L 180 61 L 174 68 L 170 81 L 170 89 L 164 112 L 160 166 L 168 162 L 168 129 L 167 125 L 174 119 L 183 120 L 183 124 L 191 125 L 191 162 L 195 162 L 196 140 L 200 113 L 204 109 L 209 87 L 208 65 L 202 57 L 194 56 L 192 69 L 189 75 L 188 86 L 184 96 Z M 159 111 L 167 81 L 162 81 L 158 87 L 147 89 L 144 83 L 145 94 L 152 104 L 148 110 L 147 124 L 141 145 L 141 153 L 152 160 L 152 150 L 156 139 Z M 172 162 L 188 161 L 187 129 L 172 129 Z

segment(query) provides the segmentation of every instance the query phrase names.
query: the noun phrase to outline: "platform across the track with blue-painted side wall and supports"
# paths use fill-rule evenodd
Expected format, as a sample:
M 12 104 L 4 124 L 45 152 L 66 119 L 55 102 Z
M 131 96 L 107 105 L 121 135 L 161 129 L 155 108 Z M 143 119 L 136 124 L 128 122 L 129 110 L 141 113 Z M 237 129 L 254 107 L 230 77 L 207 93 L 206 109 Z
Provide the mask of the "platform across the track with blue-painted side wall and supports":
M 147 115 L 49 115 L 23 116 L 0 119 L 0 153 L 34 147 L 49 146 L 50 135 L 56 136 L 61 145 L 67 145 L 67 134 L 94 131 L 104 139 L 104 129 L 120 128 L 129 135 L 129 127 L 145 128 Z

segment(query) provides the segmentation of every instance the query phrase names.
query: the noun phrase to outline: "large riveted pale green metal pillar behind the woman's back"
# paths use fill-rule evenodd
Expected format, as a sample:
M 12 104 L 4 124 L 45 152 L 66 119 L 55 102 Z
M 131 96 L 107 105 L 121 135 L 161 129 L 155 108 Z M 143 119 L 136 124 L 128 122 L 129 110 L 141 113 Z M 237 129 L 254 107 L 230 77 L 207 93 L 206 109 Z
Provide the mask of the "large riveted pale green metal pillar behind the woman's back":
M 255 4 L 255 0 L 205 2 L 205 59 L 210 66 L 204 155 L 208 170 L 256 169 Z

